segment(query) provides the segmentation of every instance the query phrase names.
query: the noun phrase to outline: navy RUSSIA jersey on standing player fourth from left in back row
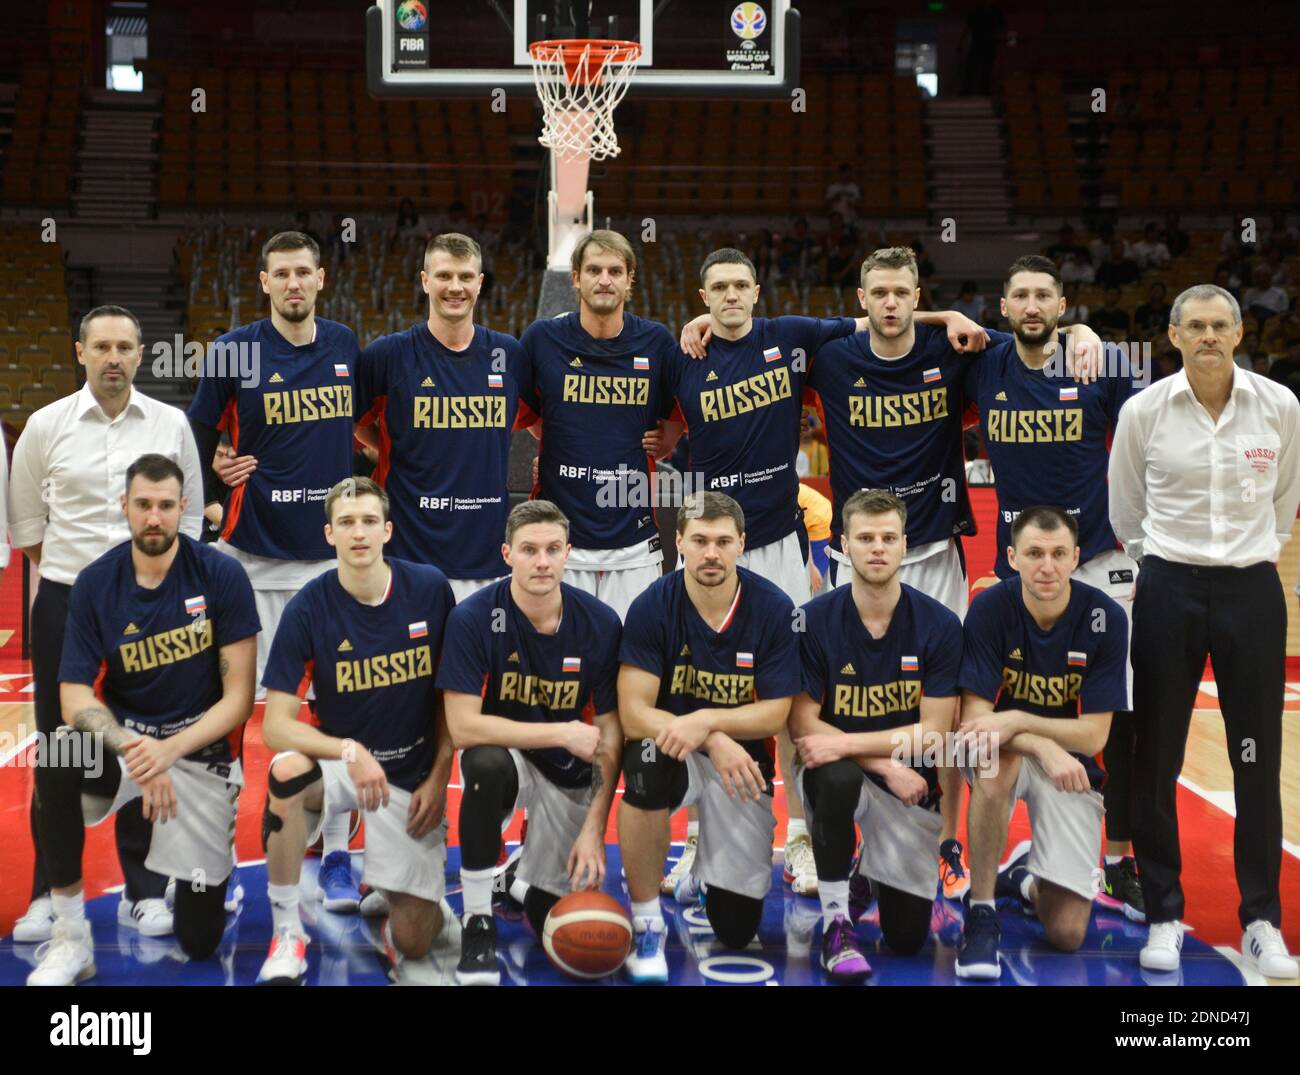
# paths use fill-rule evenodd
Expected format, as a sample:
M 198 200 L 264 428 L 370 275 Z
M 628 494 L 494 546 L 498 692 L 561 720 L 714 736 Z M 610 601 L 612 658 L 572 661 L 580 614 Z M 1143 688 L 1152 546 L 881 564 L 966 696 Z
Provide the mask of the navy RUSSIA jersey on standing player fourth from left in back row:
M 852 317 L 755 317 L 741 339 L 714 335 L 702 361 L 679 352 L 672 364 L 690 468 L 740 503 L 746 549 L 780 541 L 800 524 L 794 460 L 809 363 L 855 328 Z

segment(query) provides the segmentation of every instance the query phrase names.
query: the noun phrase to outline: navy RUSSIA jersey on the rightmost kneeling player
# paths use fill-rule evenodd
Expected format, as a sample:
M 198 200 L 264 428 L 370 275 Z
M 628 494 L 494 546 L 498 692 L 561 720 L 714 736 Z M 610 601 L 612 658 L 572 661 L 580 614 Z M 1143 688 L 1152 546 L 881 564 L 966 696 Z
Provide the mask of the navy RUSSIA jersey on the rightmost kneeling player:
M 976 594 L 966 614 L 961 686 L 993 710 L 1078 718 L 1128 708 L 1128 617 L 1095 586 L 1070 582 L 1070 603 L 1050 630 L 1024 607 L 1020 576 Z M 1075 754 L 1093 788 L 1100 755 Z

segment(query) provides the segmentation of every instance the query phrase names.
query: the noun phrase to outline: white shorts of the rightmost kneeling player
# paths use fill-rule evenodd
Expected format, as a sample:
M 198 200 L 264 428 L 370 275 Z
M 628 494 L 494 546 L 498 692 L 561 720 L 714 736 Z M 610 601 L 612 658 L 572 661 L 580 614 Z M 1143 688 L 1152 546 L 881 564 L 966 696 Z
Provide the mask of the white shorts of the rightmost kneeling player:
M 1004 755 L 1005 757 L 1005 755 Z M 967 780 L 979 780 L 970 770 Z M 1101 819 L 1106 807 L 1100 792 L 1062 792 L 1034 758 L 1020 758 L 1006 823 L 1015 803 L 1024 801 L 1034 842 L 1030 872 L 1040 881 L 1092 900 L 1101 885 Z

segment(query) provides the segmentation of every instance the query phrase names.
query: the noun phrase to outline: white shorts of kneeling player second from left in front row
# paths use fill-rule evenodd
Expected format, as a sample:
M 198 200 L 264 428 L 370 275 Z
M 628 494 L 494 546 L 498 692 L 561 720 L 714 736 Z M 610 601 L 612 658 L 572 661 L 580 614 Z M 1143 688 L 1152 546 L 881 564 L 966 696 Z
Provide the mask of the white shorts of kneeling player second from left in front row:
M 277 754 L 274 764 L 292 751 Z M 320 763 L 325 801 L 321 811 L 306 811 L 307 844 L 320 838 L 325 823 L 339 814 L 360 810 L 356 785 L 347 775 L 347 763 L 326 759 Z M 389 805 L 378 810 L 361 811 L 365 822 L 365 859 L 361 880 L 384 892 L 404 892 L 420 900 L 437 903 L 447 894 L 447 819 L 433 832 L 416 840 L 407 831 L 411 793 L 389 785 Z

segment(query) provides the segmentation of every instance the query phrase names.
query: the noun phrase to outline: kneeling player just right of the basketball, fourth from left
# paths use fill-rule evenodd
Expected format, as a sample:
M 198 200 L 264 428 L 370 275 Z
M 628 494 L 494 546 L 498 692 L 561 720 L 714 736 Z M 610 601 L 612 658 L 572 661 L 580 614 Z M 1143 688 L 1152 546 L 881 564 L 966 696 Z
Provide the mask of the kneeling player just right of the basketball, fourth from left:
M 659 879 L 668 818 L 699 809 L 692 866 L 714 933 L 745 948 L 772 885 L 775 736 L 800 689 L 794 606 L 772 582 L 736 565 L 745 515 L 703 493 L 677 511 L 684 569 L 632 602 L 619 659 L 619 716 L 628 737 L 619 844 L 632 897 L 628 976 L 664 983 Z M 532 838 L 532 833 L 529 833 Z

